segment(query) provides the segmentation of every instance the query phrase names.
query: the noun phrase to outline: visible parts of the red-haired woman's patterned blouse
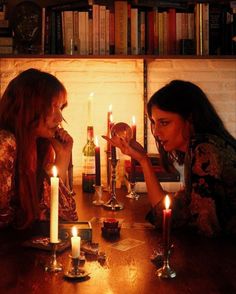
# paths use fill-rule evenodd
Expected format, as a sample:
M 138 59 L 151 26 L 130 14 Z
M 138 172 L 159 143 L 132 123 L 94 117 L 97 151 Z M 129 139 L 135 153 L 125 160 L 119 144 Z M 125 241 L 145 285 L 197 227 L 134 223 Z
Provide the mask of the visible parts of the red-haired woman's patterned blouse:
M 14 173 L 16 162 L 16 139 L 13 134 L 0 130 L 0 228 L 14 221 L 16 208 L 14 202 Z M 43 182 L 43 195 L 40 199 L 40 220 L 49 219 L 50 184 L 49 179 Z M 59 217 L 61 220 L 75 221 L 78 219 L 73 196 L 60 180 L 59 183 Z

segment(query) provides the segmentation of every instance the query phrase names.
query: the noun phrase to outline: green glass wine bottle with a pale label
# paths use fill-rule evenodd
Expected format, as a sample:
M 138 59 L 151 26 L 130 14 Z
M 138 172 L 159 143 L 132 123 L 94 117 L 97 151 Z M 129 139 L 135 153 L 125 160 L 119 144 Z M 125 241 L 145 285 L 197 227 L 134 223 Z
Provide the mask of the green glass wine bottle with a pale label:
M 83 147 L 82 168 L 83 192 L 92 193 L 95 184 L 95 144 L 92 126 L 87 127 L 87 143 Z

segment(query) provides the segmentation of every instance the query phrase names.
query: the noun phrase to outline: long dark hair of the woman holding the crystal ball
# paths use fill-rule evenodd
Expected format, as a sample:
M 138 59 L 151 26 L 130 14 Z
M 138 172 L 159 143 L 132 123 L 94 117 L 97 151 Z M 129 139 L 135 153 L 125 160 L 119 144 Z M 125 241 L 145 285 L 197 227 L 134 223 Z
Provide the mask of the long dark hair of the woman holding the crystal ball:
M 188 81 L 173 80 L 155 92 L 148 101 L 149 117 L 152 115 L 153 106 L 179 114 L 184 120 L 189 120 L 194 133 L 214 134 L 236 148 L 236 140 L 227 131 L 208 97 L 197 85 Z M 177 150 L 166 152 L 158 138 L 155 139 L 162 165 L 166 170 L 170 170 L 175 160 L 183 164 L 184 153 Z

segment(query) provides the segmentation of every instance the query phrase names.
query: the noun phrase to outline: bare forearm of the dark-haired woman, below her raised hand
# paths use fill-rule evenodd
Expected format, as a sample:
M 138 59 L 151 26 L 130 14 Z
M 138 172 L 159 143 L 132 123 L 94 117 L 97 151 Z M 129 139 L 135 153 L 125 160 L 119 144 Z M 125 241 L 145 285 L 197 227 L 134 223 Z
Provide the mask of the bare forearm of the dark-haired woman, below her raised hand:
M 152 206 L 155 206 L 163 199 L 165 193 L 156 177 L 150 159 L 148 157 L 145 157 L 140 162 L 140 164 L 143 169 L 149 201 Z

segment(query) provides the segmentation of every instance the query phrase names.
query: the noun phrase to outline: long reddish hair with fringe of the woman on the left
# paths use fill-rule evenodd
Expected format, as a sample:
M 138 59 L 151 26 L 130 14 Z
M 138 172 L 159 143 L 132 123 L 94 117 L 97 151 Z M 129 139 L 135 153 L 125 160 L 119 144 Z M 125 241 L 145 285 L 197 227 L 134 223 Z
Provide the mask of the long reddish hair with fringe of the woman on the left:
M 29 227 L 39 217 L 43 164 L 52 147 L 47 139 L 35 139 L 35 129 L 60 95 L 66 95 L 66 90 L 55 76 L 31 68 L 10 81 L 0 100 L 0 129 L 13 133 L 17 145 L 14 206 L 18 228 Z

